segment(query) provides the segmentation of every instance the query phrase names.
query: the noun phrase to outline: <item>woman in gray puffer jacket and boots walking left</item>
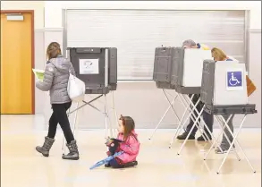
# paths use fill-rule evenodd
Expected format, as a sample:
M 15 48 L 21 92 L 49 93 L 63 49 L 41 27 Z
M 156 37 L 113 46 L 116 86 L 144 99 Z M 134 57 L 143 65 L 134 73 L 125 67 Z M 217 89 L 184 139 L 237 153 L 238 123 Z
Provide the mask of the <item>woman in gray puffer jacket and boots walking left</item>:
M 63 155 L 63 159 L 78 160 L 78 147 L 66 114 L 66 111 L 72 105 L 72 100 L 67 93 L 69 73 L 75 75 L 75 72 L 72 63 L 61 55 L 61 48 L 58 43 L 52 42 L 49 44 L 46 49 L 46 56 L 48 61 L 44 81 L 37 81 L 36 87 L 42 91 L 50 91 L 53 114 L 49 119 L 48 134 L 45 137 L 44 145 L 42 147 L 38 146 L 36 149 L 43 156 L 49 156 L 49 150 L 55 141 L 56 128 L 59 123 L 67 141 L 66 146 L 70 151 L 67 155 Z

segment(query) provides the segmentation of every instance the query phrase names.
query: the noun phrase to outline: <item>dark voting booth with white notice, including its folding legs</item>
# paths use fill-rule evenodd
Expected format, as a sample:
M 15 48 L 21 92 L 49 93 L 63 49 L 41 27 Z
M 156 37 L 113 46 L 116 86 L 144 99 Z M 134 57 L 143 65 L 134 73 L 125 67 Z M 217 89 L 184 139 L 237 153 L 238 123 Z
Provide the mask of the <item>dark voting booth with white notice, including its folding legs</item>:
M 113 135 L 113 128 L 110 123 L 108 115 L 108 106 L 106 101 L 106 95 L 110 91 L 114 91 L 117 88 L 117 48 L 114 47 L 68 47 L 67 57 L 70 57 L 72 66 L 76 72 L 76 77 L 85 82 L 87 95 L 98 95 L 96 98 L 89 100 L 88 102 L 83 100 L 83 105 L 77 103 L 74 110 L 69 111 L 68 115 L 74 114 L 74 120 L 72 123 L 73 132 L 76 129 L 77 115 L 80 108 L 84 106 L 91 106 L 98 112 L 105 115 L 105 127 L 106 137 L 108 131 L 110 136 Z M 105 111 L 100 111 L 96 106 L 91 103 L 98 98 L 104 97 Z M 97 100 L 99 101 L 99 100 Z M 113 105 L 114 105 L 114 92 L 113 92 Z M 117 114 L 114 109 L 115 120 L 117 120 Z M 107 125 L 107 119 L 109 119 L 109 127 Z M 65 141 L 63 142 L 63 151 L 65 147 Z

